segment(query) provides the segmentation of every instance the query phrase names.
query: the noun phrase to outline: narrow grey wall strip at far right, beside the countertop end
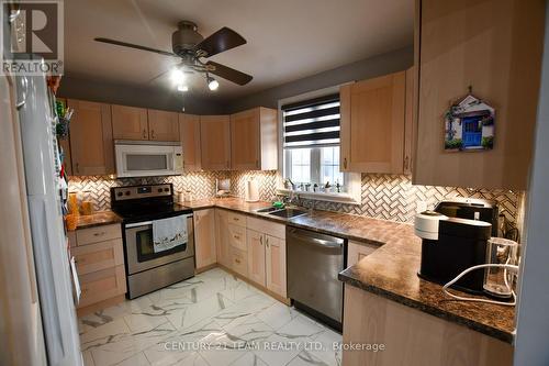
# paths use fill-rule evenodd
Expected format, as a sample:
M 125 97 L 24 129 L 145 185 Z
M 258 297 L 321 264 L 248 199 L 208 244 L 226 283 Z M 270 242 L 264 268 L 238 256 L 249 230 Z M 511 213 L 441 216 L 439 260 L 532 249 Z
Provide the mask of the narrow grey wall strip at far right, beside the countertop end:
M 549 365 L 549 7 L 529 204 L 522 258 L 515 365 Z

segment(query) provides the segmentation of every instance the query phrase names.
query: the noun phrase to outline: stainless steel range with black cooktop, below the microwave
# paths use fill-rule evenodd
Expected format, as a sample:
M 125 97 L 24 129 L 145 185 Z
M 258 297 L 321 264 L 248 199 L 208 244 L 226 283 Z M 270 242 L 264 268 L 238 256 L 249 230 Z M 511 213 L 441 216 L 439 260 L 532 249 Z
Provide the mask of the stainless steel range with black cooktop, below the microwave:
M 111 188 L 111 208 L 123 219 L 130 299 L 194 276 L 192 210 L 173 203 L 171 184 Z M 186 228 L 171 228 L 179 230 L 177 245 L 159 251 L 153 229 L 176 217 Z

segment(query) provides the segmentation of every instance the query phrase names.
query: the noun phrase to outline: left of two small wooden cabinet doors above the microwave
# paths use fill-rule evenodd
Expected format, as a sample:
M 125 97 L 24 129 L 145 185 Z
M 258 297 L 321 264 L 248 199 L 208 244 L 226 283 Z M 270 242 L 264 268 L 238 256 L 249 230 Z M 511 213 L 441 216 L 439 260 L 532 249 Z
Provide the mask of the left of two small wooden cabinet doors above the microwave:
M 111 106 L 114 140 L 148 140 L 147 110 L 145 108 Z

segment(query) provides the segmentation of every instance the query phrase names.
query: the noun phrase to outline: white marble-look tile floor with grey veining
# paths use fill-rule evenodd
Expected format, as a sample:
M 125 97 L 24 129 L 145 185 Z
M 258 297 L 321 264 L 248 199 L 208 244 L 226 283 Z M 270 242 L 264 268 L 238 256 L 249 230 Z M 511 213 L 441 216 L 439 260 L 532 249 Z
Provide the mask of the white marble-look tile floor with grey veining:
M 79 320 L 86 366 L 341 364 L 341 335 L 214 268 Z

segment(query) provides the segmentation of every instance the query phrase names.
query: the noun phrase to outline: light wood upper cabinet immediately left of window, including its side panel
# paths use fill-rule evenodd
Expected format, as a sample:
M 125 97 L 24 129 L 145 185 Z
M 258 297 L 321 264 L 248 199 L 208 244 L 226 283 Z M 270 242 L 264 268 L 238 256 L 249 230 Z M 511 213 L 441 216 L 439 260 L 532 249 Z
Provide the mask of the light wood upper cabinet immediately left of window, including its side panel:
M 231 158 L 236 170 L 278 167 L 277 111 L 254 108 L 231 115 Z

